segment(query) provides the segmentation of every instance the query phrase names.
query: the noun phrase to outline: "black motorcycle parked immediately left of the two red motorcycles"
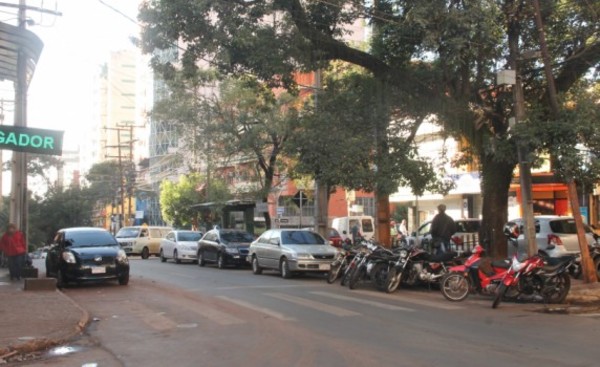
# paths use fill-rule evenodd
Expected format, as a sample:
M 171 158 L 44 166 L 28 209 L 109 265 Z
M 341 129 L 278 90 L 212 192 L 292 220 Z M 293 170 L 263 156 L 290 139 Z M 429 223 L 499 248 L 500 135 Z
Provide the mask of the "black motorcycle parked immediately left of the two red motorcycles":
M 393 293 L 400 283 L 408 286 L 436 283 L 448 272 L 448 266 L 456 265 L 456 258 L 455 252 L 431 255 L 421 247 L 403 248 L 397 260 L 390 264 L 383 290 Z

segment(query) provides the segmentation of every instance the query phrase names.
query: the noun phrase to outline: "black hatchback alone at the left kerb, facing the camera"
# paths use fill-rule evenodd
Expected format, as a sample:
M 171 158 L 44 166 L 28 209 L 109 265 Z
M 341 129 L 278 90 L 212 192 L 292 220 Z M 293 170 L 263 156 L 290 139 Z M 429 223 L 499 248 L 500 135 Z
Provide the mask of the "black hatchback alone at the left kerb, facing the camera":
M 46 277 L 56 278 L 58 287 L 89 280 L 118 280 L 127 285 L 129 260 L 104 229 L 61 229 L 46 256 Z

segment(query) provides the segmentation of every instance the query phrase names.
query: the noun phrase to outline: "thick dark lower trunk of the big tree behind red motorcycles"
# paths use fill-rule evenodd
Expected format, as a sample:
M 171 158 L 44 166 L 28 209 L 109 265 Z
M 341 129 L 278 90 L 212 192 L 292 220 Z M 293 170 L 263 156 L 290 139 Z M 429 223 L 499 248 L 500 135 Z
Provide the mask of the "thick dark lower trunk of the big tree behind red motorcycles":
M 497 161 L 492 155 L 480 155 L 480 159 L 483 221 L 479 242 L 491 256 L 503 259 L 508 255 L 503 228 L 508 221 L 508 190 L 515 164 Z

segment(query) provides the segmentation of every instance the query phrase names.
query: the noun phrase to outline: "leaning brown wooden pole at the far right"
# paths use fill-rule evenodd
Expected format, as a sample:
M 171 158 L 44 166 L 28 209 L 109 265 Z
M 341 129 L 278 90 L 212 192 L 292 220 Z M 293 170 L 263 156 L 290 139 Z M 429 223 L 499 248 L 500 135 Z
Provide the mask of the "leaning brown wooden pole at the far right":
M 546 44 L 546 35 L 544 32 L 544 23 L 542 21 L 542 14 L 540 12 L 539 0 L 533 0 L 533 7 L 535 9 L 535 24 L 538 30 L 540 51 L 542 53 L 542 60 L 544 62 L 544 72 L 546 74 L 546 81 L 548 83 L 548 99 L 550 100 L 550 110 L 552 112 L 552 118 L 557 119 L 560 114 L 560 107 L 558 105 L 556 84 L 554 82 L 552 64 L 550 62 L 550 55 L 548 53 L 548 46 Z M 598 281 L 598 275 L 596 273 L 592 258 L 590 257 L 587 239 L 585 238 L 585 228 L 583 226 L 583 220 L 580 214 L 581 211 L 579 208 L 577 186 L 573 177 L 568 178 L 567 190 L 569 194 L 569 201 L 571 202 L 571 211 L 573 212 L 573 218 L 575 219 L 575 226 L 577 227 L 577 239 L 579 240 L 579 249 L 581 250 L 583 278 L 586 283 L 595 283 Z

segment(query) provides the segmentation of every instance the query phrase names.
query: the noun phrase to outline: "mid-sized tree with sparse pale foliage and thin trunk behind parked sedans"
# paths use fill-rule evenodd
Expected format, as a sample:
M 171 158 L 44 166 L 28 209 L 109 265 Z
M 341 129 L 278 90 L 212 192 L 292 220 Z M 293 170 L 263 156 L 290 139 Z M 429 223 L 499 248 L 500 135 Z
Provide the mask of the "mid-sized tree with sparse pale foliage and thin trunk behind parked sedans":
M 248 76 L 225 79 L 210 93 L 206 86 L 214 83 L 215 76 L 208 74 L 174 72 L 168 80 L 170 96 L 153 113 L 177 126 L 185 151 L 196 159 L 203 156 L 207 176 L 218 176 L 219 168 L 230 160 L 256 162 L 249 177 L 258 189 L 246 187 L 237 194 L 267 202 L 278 184 L 279 158 L 297 125 L 296 98 Z M 269 213 L 265 213 L 265 223 L 271 227 Z

